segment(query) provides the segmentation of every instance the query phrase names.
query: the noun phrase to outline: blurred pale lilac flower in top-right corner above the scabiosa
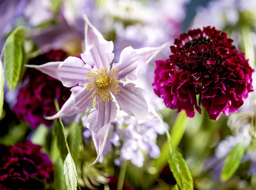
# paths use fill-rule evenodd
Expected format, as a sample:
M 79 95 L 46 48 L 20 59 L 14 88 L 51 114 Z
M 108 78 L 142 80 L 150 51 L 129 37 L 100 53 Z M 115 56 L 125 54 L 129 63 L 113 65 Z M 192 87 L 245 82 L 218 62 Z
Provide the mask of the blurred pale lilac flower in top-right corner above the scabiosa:
M 255 0 L 212 0 L 207 7 L 199 7 L 194 21 L 190 28 L 202 28 L 214 26 L 216 29 L 226 29 L 234 45 L 241 43 L 239 30 L 233 29 L 237 24 L 250 24 L 256 26 L 256 1 Z M 231 29 L 231 30 L 230 30 Z M 256 36 L 253 36 L 253 43 L 256 46 Z

